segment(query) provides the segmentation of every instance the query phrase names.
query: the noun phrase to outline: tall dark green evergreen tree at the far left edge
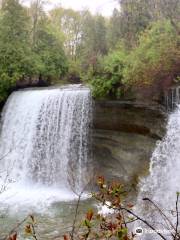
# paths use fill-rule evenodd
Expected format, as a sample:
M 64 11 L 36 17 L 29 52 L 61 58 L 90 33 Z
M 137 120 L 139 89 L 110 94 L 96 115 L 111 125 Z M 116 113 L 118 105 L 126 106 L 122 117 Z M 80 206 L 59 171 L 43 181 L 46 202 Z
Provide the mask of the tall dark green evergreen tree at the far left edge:
M 17 81 L 30 75 L 29 17 L 18 0 L 5 0 L 0 22 L 0 100 Z

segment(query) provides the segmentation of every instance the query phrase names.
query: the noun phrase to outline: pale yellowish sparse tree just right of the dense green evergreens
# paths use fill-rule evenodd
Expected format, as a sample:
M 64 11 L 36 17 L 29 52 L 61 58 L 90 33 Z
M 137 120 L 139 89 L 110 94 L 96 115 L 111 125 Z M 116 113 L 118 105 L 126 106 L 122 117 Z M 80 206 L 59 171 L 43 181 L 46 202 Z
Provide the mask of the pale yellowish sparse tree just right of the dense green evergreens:
M 65 53 L 68 58 L 69 71 L 66 78 L 70 82 L 77 82 L 81 75 L 79 49 L 82 37 L 83 12 L 72 9 L 55 8 L 51 12 L 52 25 L 61 32 Z

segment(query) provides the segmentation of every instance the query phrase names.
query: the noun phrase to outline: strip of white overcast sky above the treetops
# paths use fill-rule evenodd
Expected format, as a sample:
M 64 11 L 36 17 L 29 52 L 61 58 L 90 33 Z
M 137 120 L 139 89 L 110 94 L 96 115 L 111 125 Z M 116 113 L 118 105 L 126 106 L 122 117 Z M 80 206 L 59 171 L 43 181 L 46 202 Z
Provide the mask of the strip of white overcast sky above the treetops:
M 30 2 L 30 0 L 24 0 Z M 101 13 L 104 16 L 110 16 L 115 7 L 119 7 L 118 0 L 49 0 L 48 9 L 53 6 L 62 6 L 82 10 L 88 8 L 92 13 Z

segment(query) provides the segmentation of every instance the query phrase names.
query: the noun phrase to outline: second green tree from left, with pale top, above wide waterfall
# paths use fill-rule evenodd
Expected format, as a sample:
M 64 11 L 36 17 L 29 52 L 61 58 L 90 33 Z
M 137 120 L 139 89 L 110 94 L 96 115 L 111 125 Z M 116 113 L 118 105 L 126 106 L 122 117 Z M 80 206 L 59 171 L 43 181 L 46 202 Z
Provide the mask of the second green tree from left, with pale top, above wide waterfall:
M 34 0 L 30 8 L 34 73 L 40 84 L 49 84 L 67 72 L 63 36 L 43 10 L 43 0 Z

